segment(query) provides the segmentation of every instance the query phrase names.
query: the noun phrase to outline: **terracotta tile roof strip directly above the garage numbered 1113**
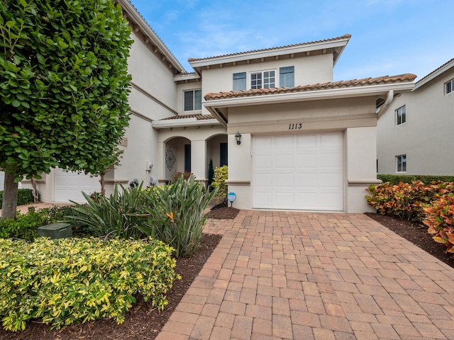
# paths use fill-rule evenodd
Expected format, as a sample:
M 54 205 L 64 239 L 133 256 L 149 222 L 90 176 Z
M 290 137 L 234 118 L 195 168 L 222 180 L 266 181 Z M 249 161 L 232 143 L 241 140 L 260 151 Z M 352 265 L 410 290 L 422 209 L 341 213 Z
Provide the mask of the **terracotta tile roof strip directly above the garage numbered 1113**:
M 262 96 L 267 94 L 289 94 L 292 92 L 304 92 L 304 91 L 317 91 L 317 90 L 331 90 L 331 89 L 343 89 L 348 87 L 358 86 L 370 86 L 379 84 L 389 83 L 400 83 L 404 81 L 414 81 L 416 78 L 415 74 L 399 74 L 397 76 L 384 76 L 377 78 L 364 78 L 364 79 L 353 79 L 348 81 L 329 81 L 323 84 L 309 84 L 295 87 L 280 87 L 273 89 L 257 89 L 257 90 L 246 90 L 246 91 L 230 91 L 230 92 L 219 92 L 206 94 L 204 97 L 206 101 L 213 99 L 225 99 L 225 98 L 236 98 L 236 97 L 249 97 L 249 96 Z

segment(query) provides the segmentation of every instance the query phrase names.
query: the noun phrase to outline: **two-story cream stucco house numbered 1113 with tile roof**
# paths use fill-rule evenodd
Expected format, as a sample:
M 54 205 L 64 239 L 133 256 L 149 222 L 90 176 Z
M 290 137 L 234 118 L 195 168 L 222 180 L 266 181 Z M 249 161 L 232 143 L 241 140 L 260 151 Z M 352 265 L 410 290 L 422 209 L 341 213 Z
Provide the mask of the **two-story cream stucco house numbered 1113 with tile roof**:
M 216 57 L 184 70 L 128 0 L 133 28 L 131 122 L 107 191 L 133 179 L 164 183 L 176 171 L 206 182 L 228 164 L 240 209 L 365 212 L 376 183 L 377 102 L 414 88 L 414 74 L 333 82 L 350 35 Z M 28 185 L 27 183 L 25 183 Z M 82 200 L 98 179 L 52 170 L 38 183 L 48 202 Z

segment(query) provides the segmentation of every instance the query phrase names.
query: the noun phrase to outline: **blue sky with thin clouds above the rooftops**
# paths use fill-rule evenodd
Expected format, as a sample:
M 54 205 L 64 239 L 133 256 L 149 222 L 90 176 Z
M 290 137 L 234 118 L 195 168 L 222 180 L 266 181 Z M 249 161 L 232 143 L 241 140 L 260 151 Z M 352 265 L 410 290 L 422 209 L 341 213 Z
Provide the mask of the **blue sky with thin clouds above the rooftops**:
M 413 73 L 454 57 L 453 0 L 131 0 L 187 72 L 214 57 L 351 34 L 334 81 Z

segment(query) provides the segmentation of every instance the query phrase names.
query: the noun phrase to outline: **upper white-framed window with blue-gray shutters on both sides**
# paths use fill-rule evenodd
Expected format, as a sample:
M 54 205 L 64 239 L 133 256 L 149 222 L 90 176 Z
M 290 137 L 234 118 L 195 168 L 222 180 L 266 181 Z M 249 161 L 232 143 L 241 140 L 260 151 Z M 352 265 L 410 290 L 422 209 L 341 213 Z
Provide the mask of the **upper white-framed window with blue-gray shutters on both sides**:
M 294 67 L 279 68 L 279 84 L 277 84 L 277 71 L 274 69 L 249 74 L 249 89 L 270 89 L 273 87 L 294 87 Z M 233 74 L 233 91 L 248 89 L 246 72 Z

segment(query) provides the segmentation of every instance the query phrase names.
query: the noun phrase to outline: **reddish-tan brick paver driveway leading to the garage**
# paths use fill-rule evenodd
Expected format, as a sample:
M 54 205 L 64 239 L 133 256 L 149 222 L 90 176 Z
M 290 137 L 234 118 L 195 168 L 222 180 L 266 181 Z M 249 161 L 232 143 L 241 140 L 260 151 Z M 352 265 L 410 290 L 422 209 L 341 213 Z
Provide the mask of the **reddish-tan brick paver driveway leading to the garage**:
M 454 339 L 454 269 L 365 215 L 242 210 L 157 340 Z

